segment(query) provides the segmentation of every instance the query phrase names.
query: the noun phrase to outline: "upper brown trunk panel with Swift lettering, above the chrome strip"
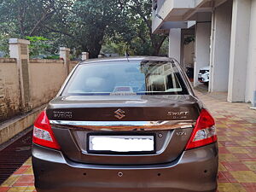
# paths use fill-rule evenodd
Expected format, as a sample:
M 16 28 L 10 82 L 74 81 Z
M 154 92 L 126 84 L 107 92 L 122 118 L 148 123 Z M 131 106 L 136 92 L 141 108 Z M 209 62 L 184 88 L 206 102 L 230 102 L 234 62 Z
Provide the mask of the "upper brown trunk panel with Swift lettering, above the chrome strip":
M 121 120 L 197 119 L 201 104 L 194 96 L 59 96 L 46 108 L 50 120 L 114 121 L 121 108 Z M 158 110 L 158 113 L 155 111 Z M 175 112 L 184 112 L 175 114 Z

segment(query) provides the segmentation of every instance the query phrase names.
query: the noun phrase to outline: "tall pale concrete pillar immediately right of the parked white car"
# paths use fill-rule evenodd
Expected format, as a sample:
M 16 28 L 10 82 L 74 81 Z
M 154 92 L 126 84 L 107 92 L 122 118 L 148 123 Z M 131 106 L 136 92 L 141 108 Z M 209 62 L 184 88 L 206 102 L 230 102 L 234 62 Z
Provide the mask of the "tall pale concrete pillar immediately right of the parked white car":
M 209 91 L 227 91 L 230 65 L 232 1 L 212 13 L 212 41 Z

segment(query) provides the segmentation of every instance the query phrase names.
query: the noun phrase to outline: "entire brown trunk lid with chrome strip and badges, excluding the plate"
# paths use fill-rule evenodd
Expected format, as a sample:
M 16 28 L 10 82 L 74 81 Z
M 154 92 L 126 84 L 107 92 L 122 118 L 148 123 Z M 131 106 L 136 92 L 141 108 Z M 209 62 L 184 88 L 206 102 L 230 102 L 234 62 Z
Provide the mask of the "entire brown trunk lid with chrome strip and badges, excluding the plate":
M 193 96 L 60 96 L 46 110 L 61 151 L 90 164 L 159 164 L 176 160 L 189 140 L 200 103 Z M 151 154 L 93 154 L 90 134 L 154 135 Z M 63 139 L 65 138 L 65 139 Z

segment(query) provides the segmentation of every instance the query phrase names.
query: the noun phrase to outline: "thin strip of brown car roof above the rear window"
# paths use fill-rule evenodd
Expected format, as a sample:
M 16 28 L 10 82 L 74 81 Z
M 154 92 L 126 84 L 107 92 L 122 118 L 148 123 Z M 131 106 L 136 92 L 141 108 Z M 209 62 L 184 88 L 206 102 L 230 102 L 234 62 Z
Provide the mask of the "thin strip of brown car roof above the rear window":
M 173 61 L 170 57 L 161 56 L 127 56 L 127 57 L 104 57 L 81 61 L 79 64 L 89 64 L 105 61 Z

